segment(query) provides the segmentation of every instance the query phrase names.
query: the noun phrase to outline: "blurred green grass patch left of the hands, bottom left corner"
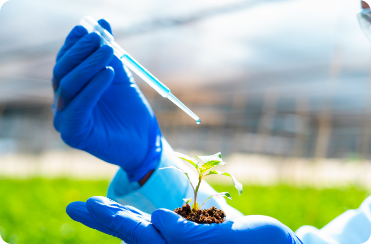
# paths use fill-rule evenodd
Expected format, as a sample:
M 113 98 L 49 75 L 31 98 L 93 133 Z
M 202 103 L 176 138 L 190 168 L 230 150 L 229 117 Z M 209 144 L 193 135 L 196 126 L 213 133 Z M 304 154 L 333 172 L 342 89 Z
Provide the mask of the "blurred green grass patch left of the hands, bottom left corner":
M 13 243 L 120 243 L 66 214 L 73 201 L 105 196 L 108 181 L 0 180 L 0 233 Z M 3 235 L 2 235 L 3 237 Z

